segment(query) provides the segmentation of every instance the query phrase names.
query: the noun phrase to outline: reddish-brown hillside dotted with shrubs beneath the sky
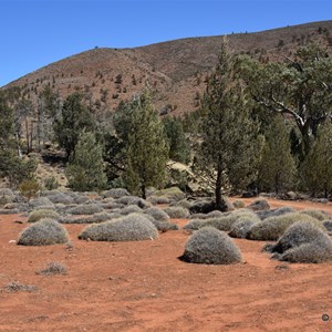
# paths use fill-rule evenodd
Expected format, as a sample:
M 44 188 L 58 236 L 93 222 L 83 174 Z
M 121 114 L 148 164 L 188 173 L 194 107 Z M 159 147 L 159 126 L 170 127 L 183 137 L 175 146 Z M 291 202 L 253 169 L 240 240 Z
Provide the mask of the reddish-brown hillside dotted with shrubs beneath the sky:
M 97 108 L 112 111 L 148 81 L 156 107 L 180 114 L 199 106 L 204 81 L 217 61 L 221 38 L 188 38 L 135 49 L 93 49 L 41 68 L 2 89 L 20 86 L 31 100 L 45 85 L 62 97 L 79 91 Z M 273 60 L 290 55 L 308 41 L 332 50 L 332 21 L 229 35 L 236 53 Z

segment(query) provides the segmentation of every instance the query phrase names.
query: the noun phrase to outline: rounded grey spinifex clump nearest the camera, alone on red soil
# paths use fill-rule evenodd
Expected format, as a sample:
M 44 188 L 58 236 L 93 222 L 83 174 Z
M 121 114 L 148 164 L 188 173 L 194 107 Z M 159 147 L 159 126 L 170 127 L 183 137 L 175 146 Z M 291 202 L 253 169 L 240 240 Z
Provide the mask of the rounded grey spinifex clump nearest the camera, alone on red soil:
M 189 238 L 179 259 L 190 263 L 232 264 L 241 262 L 241 252 L 226 232 L 204 227 Z

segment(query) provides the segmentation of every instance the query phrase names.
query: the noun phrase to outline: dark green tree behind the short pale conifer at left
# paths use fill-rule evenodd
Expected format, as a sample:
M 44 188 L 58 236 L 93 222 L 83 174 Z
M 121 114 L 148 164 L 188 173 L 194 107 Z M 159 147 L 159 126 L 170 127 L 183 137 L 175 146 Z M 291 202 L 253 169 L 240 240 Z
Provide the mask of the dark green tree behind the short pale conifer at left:
M 70 157 L 79 142 L 79 136 L 85 129 L 92 131 L 94 127 L 92 115 L 82 102 L 82 95 L 74 93 L 69 95 L 63 104 L 61 117 L 54 122 L 55 139 L 60 147 Z

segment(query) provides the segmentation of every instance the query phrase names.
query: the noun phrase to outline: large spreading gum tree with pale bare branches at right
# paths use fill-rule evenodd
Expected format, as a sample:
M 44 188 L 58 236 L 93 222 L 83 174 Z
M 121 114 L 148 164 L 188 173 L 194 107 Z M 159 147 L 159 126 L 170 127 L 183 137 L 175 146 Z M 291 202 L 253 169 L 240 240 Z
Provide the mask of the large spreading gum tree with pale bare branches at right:
M 315 135 L 319 125 L 331 117 L 332 59 L 310 44 L 284 62 L 245 58 L 238 64 L 253 101 L 269 113 L 287 114 L 298 126 L 302 160 L 310 151 L 312 133 Z

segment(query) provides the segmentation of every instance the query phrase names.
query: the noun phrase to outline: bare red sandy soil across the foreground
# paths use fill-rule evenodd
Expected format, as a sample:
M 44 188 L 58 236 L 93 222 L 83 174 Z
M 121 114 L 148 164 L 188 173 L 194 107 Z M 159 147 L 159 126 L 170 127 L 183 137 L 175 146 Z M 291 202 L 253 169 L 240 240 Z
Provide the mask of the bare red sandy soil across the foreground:
M 331 204 L 280 204 L 332 212 Z M 25 220 L 0 216 L 0 331 L 332 331 L 331 263 L 274 261 L 261 252 L 266 242 L 236 239 L 243 263 L 189 264 L 177 259 L 189 237 L 181 230 L 92 242 L 77 239 L 84 225 L 65 225 L 72 249 L 10 242 Z M 51 261 L 68 274 L 35 273 Z M 9 292 L 13 281 L 38 291 Z

